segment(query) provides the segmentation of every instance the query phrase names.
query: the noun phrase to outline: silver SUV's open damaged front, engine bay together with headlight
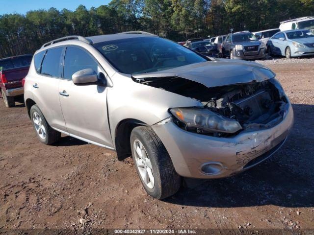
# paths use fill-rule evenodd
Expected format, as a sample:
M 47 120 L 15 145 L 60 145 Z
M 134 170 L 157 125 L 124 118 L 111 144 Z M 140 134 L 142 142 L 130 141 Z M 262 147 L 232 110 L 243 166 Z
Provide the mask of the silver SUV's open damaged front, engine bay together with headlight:
M 232 137 L 243 131 L 273 127 L 283 120 L 289 106 L 275 78 L 219 87 L 177 76 L 133 80 L 201 102 L 203 108 L 169 111 L 180 128 L 209 136 Z

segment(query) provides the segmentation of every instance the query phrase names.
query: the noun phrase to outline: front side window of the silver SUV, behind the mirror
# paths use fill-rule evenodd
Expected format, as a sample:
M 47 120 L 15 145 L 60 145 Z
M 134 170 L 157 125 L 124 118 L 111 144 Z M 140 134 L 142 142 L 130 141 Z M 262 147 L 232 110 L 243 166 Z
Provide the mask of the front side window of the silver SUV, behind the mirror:
M 72 80 L 73 73 L 92 69 L 97 72 L 97 62 L 83 49 L 78 47 L 67 47 L 64 58 L 64 78 Z

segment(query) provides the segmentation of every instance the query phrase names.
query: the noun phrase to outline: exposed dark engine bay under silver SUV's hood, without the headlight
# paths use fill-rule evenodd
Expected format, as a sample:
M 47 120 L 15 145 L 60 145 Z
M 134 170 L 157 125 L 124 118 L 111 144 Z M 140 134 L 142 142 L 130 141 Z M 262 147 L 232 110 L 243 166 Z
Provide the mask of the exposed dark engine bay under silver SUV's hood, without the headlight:
M 196 99 L 210 111 L 235 119 L 243 130 L 263 129 L 276 125 L 282 120 L 288 105 L 288 100 L 276 79 L 212 88 L 181 77 L 133 80 Z

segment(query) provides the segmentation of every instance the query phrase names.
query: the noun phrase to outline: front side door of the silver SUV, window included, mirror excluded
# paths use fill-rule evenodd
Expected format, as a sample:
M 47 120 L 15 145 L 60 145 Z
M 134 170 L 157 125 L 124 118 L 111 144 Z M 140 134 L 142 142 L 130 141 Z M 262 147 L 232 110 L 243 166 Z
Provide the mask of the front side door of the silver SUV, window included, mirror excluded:
M 75 85 L 73 73 L 94 70 L 105 84 L 105 71 L 84 48 L 66 48 L 63 79 L 59 83 L 59 98 L 67 131 L 89 142 L 112 146 L 107 114 L 107 87 L 97 84 Z

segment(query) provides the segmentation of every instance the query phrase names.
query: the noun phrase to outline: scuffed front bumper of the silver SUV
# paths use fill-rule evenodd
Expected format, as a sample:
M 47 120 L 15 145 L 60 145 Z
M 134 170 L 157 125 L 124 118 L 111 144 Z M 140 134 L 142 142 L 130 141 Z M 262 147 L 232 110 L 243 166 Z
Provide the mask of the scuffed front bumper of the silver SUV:
M 283 120 L 269 129 L 243 131 L 232 138 L 217 138 L 179 128 L 169 121 L 152 128 L 166 147 L 177 173 L 190 178 L 223 178 L 240 173 L 270 157 L 288 137 L 293 125 L 289 103 Z M 219 166 L 219 172 L 204 173 L 204 164 Z

